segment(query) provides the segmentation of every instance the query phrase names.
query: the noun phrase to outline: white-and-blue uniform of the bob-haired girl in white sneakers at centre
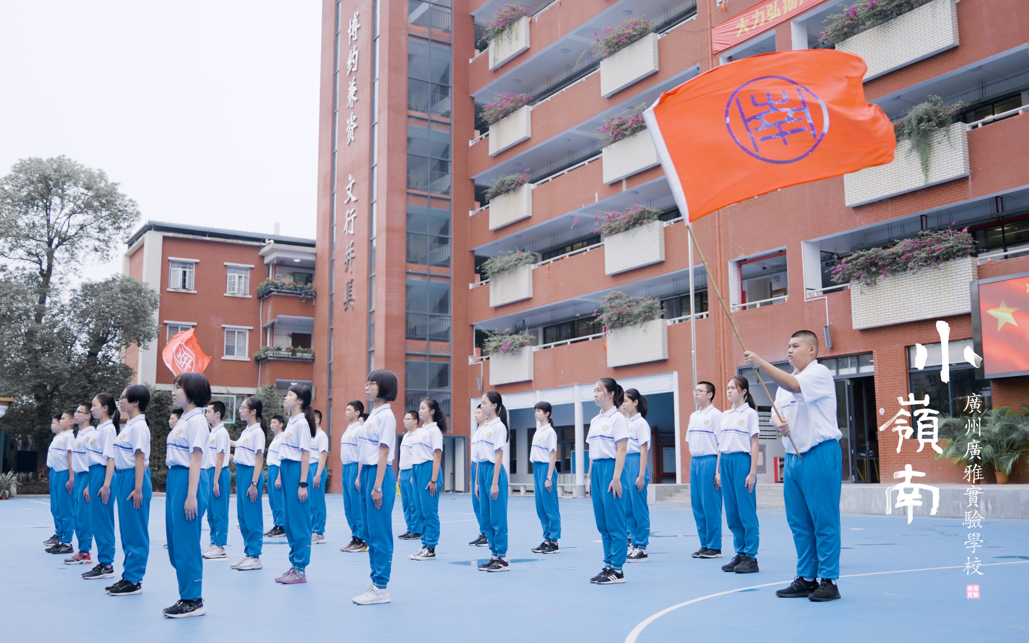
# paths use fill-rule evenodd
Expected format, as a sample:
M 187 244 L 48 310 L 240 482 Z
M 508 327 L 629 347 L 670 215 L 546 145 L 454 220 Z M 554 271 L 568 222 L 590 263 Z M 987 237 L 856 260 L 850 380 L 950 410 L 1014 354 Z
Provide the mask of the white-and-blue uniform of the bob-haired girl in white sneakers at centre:
M 381 445 L 389 446 L 386 456 L 386 470 L 383 472 L 382 505 L 377 509 L 371 500 L 376 475 L 379 473 Z M 396 451 L 396 418 L 389 403 L 377 406 L 364 421 L 364 428 L 358 437 L 358 462 L 361 463 L 361 529 L 368 543 L 368 564 L 371 566 L 371 582 L 377 587 L 389 583 L 391 561 L 393 559 L 393 503 L 396 501 L 396 474 L 393 473 L 393 457 Z

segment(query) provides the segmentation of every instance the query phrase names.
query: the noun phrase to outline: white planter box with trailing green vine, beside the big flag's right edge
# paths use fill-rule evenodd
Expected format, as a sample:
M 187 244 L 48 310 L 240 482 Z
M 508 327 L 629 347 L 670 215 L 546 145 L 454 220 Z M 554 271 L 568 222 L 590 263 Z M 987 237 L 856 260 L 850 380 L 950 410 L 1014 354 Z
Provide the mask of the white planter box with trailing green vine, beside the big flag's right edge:
M 928 180 L 922 173 L 918 152 L 911 149 L 911 141 L 900 141 L 892 163 L 844 175 L 844 202 L 855 208 L 969 174 L 968 132 L 963 122 L 955 122 L 932 135 Z

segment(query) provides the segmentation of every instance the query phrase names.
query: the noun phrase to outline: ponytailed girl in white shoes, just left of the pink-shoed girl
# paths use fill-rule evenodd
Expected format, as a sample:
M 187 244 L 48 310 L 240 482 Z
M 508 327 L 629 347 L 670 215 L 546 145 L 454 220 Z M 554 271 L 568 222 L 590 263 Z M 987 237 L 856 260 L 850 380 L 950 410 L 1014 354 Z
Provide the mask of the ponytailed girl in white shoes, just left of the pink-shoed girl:
M 261 491 L 264 489 L 264 418 L 263 404 L 256 397 L 248 397 L 240 404 L 240 419 L 247 427 L 240 433 L 240 439 L 233 445 L 236 454 L 236 516 L 243 535 L 244 558 L 232 566 L 233 569 L 247 571 L 260 569 L 262 544 L 261 530 L 264 529 L 264 506 Z

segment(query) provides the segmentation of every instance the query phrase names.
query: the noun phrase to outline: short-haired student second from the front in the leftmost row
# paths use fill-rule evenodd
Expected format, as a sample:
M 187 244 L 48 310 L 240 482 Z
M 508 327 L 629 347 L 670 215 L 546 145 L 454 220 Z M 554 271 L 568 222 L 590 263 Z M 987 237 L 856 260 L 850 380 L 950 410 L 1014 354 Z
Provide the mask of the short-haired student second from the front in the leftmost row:
M 150 558 L 150 428 L 143 412 L 150 391 L 134 384 L 121 393 L 118 408 L 129 417 L 114 440 L 114 499 L 121 536 L 121 580 L 105 587 L 111 596 L 143 592 L 143 574 Z

